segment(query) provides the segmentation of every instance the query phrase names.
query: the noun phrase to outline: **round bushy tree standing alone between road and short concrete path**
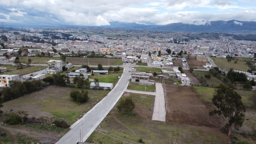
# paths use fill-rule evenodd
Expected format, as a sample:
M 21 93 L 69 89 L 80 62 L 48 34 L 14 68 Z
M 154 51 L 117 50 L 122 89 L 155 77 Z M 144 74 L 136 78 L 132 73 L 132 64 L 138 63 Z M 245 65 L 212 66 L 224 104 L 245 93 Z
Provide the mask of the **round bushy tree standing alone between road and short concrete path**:
M 126 112 L 128 116 L 129 112 L 131 112 L 135 108 L 135 104 L 130 96 L 124 97 L 119 100 L 116 108 L 119 112 Z

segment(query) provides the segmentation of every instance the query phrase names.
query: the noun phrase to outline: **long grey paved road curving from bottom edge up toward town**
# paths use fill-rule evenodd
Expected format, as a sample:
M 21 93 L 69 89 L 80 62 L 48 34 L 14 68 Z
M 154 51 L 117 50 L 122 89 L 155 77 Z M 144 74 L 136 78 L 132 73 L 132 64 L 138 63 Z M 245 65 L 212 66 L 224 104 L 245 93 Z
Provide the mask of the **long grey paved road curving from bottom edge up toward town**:
M 129 65 L 127 64 L 123 66 L 125 67 L 125 70 L 122 77 L 111 92 L 108 93 L 108 95 L 103 98 L 102 101 L 96 104 L 81 119 L 76 121 L 76 123 L 70 127 L 71 130 L 67 132 L 67 134 L 64 135 L 56 144 L 76 144 L 77 141 L 80 141 L 80 130 L 82 141 L 85 141 L 96 129 L 96 127 L 98 127 L 110 110 L 115 106 L 128 86 L 128 80 L 130 78 L 130 73 L 128 71 L 130 69 Z

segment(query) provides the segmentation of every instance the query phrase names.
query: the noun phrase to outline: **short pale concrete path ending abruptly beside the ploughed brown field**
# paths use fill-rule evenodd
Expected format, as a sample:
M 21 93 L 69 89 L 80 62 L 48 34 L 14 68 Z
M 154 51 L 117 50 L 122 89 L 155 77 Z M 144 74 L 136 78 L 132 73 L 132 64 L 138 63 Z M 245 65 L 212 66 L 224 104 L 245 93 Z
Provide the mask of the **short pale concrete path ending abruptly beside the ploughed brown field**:
M 154 111 L 152 115 L 152 121 L 166 121 L 166 112 L 165 112 L 165 100 L 163 86 L 161 83 L 156 83 L 156 97 L 154 101 Z

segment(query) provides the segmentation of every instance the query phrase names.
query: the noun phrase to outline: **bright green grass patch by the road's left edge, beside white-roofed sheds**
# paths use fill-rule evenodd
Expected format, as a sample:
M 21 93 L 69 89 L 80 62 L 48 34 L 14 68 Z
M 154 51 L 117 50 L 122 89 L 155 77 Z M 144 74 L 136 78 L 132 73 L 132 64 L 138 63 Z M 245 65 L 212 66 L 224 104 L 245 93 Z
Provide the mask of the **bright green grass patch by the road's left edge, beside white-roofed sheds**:
M 122 75 L 122 70 L 120 70 L 119 72 L 109 72 L 108 75 L 99 75 L 99 74 L 94 74 L 94 75 L 88 75 L 89 79 L 94 79 L 94 78 L 98 78 L 100 83 L 117 83 L 118 81 L 118 76 Z

